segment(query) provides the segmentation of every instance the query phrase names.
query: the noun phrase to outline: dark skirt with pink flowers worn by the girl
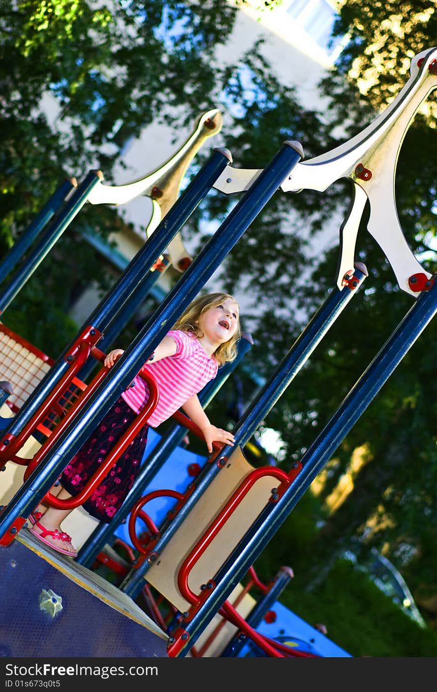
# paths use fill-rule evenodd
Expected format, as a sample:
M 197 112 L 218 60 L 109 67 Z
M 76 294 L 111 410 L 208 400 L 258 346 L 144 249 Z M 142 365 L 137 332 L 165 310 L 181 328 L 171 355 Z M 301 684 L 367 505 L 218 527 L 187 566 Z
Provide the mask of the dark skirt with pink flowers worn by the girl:
M 136 417 L 136 412 L 120 397 L 62 473 L 59 480 L 68 493 L 77 495 L 82 490 L 84 484 L 99 468 L 106 455 Z M 138 476 L 142 455 L 146 448 L 148 429 L 147 425 L 141 428 L 106 478 L 93 491 L 91 497 L 82 504 L 91 516 L 109 524 L 120 509 Z

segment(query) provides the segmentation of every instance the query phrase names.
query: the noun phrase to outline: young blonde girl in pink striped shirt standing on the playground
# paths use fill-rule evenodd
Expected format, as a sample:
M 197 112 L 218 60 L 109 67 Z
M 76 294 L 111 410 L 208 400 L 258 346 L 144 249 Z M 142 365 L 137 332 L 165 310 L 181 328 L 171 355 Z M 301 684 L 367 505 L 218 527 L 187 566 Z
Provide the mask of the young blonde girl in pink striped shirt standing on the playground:
M 208 452 L 212 452 L 214 441 L 234 443 L 232 432 L 210 423 L 197 393 L 216 376 L 220 365 L 234 360 L 240 336 L 239 306 L 232 295 L 209 293 L 189 304 L 147 361 L 147 367 L 158 382 L 158 406 L 151 413 L 147 425 L 138 432 L 106 478 L 82 505 L 89 514 L 102 522 L 111 521 L 138 475 L 147 429 L 159 426 L 178 408 L 183 408 L 201 429 Z M 104 359 L 105 367 L 112 367 L 122 353 L 122 349 L 113 349 Z M 137 376 L 66 466 L 60 477 L 62 489 L 57 493 L 58 498 L 71 498 L 82 490 L 148 399 L 147 383 Z M 32 512 L 29 520 L 32 524 L 30 531 L 43 543 L 64 555 L 75 557 L 77 552 L 71 537 L 61 529 L 62 521 L 71 511 L 41 506 L 39 511 Z

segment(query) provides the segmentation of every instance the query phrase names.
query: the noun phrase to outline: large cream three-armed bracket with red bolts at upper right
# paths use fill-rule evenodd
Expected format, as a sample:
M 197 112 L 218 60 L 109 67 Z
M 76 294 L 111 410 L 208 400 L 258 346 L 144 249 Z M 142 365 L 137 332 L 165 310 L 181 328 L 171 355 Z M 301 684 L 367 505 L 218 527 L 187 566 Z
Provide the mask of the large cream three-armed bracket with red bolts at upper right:
M 370 203 L 367 230 L 384 251 L 402 291 L 418 296 L 409 277 L 431 278 L 407 244 L 396 210 L 394 181 L 402 140 L 422 102 L 437 86 L 437 48 L 418 53 L 411 60 L 410 78 L 389 107 L 359 134 L 344 144 L 298 163 L 280 189 L 283 192 L 319 190 L 323 192 L 340 178 L 351 178 L 354 195 L 351 208 L 340 229 L 340 261 L 337 286 L 354 264 L 357 230 L 366 201 Z M 228 166 L 215 188 L 231 194 L 247 190 L 261 170 L 240 170 Z

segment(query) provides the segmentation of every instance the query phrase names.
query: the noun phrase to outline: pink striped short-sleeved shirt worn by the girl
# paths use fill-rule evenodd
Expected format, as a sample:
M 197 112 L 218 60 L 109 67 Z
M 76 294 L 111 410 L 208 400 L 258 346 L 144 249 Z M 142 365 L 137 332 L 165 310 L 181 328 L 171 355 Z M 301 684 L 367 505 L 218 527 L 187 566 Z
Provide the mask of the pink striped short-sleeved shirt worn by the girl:
M 200 392 L 218 370 L 216 359 L 208 358 L 194 334 L 171 329 L 167 336 L 176 341 L 176 353 L 147 364 L 159 387 L 158 406 L 147 421 L 152 428 L 166 421 L 189 397 Z M 122 397 L 136 413 L 140 413 L 149 400 L 149 387 L 138 376 L 133 382 L 133 387 L 123 392 Z

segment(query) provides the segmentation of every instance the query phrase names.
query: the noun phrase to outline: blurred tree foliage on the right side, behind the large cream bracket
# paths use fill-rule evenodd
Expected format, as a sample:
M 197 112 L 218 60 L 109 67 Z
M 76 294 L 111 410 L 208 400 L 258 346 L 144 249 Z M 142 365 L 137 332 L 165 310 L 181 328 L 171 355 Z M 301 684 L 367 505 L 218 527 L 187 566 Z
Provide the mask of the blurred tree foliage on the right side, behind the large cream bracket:
M 282 139 L 300 140 L 307 159 L 362 131 L 407 82 L 412 57 L 434 47 L 436 21 L 430 1 L 402 3 L 402 12 L 398 3 L 347 1 L 335 31 L 338 35 L 349 33 L 350 40 L 336 69 L 321 83 L 322 93 L 330 100 L 328 109 L 325 113 L 302 109 L 284 113 L 279 109 L 281 84 L 273 86 L 273 75 L 266 84 L 263 73 L 266 81 L 261 91 L 269 93 L 270 100 L 261 107 L 255 104 L 251 110 L 252 122 L 259 126 L 259 148 L 241 147 L 239 137 L 244 135 L 239 131 L 227 138 L 232 152 L 239 152 L 239 165 L 262 167 L 279 147 L 279 138 L 274 141 L 272 137 L 266 158 L 259 158 L 259 152 L 265 150 L 261 139 L 267 124 L 271 131 L 283 135 Z M 254 61 L 248 64 L 256 80 L 256 65 Z M 409 127 L 395 181 L 400 224 L 411 251 L 430 273 L 437 269 L 432 249 L 437 230 L 435 103 L 434 91 Z M 335 138 L 334 133 L 339 132 Z M 247 291 L 253 297 L 255 345 L 246 362 L 251 361 L 266 377 L 334 284 L 338 248 L 308 260 L 308 248 L 301 238 L 310 234 L 317 244 L 319 230 L 335 210 L 345 212 L 350 197 L 350 181 L 337 181 L 322 194 L 308 190 L 294 195 L 277 193 L 225 264 L 223 277 L 228 289 Z M 215 215 L 221 204 L 223 201 L 217 199 L 216 206 L 210 207 Z M 291 209 L 299 216 L 288 218 Z M 283 464 L 288 468 L 322 432 L 415 302 L 400 291 L 387 257 L 366 232 L 368 218 L 369 208 L 360 226 L 355 259 L 366 264 L 369 277 L 266 417 L 267 426 L 281 431 L 286 452 Z M 302 285 L 299 275 L 304 267 L 313 271 Z M 353 490 L 340 507 L 328 517 L 319 507 L 318 518 L 326 523 L 310 543 L 311 558 L 301 551 L 300 537 L 290 528 L 293 518 L 299 517 L 297 509 L 272 539 L 268 552 L 268 560 L 277 563 L 286 545 L 288 554 L 295 556 L 295 571 L 301 570 L 310 581 L 321 565 L 331 564 L 358 537 L 367 549 L 374 545 L 384 550 L 405 576 L 430 624 L 436 621 L 431 576 L 437 530 L 436 329 L 434 320 L 335 453 L 320 495 L 322 501 L 348 472 L 353 450 L 362 446 L 366 450 L 364 464 L 353 473 Z M 219 406 L 216 401 L 217 413 Z

